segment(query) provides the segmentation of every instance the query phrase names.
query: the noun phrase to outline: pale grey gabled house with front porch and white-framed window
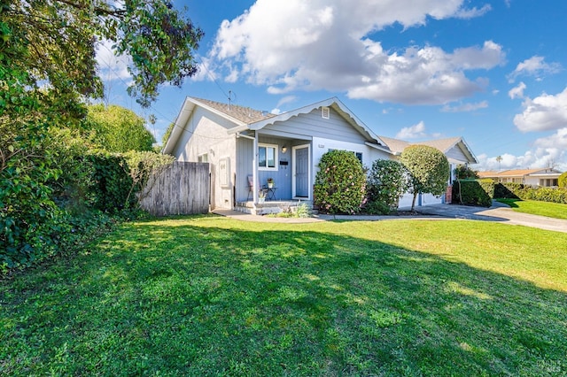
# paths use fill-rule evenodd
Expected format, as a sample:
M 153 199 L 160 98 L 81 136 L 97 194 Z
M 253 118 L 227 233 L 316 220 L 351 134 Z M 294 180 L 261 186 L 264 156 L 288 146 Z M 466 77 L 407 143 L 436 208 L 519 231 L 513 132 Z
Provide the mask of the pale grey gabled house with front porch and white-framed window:
M 268 178 L 278 201 L 313 200 L 316 166 L 333 149 L 353 151 L 364 165 L 392 158 L 386 144 L 334 97 L 278 115 L 187 97 L 163 153 L 210 163 L 212 209 L 257 213 L 259 188 Z

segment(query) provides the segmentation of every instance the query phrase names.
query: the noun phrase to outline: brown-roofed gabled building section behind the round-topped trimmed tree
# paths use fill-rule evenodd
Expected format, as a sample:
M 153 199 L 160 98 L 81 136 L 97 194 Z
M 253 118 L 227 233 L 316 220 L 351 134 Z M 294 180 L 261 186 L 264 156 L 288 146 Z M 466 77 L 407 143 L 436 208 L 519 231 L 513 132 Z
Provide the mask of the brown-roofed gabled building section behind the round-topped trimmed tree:
M 448 185 L 453 184 L 455 177 L 454 168 L 457 165 L 470 165 L 478 164 L 478 160 L 475 157 L 472 150 L 470 150 L 467 142 L 464 141 L 462 137 L 451 137 L 448 139 L 430 140 L 425 142 L 404 142 L 398 139 L 392 139 L 390 137 L 380 136 L 380 139 L 386 143 L 388 149 L 392 150 L 394 158 L 401 155 L 401 152 L 408 148 L 410 145 L 427 145 L 440 150 L 445 154 L 447 160 L 449 161 L 450 174 Z M 411 206 L 413 200 L 413 195 L 406 194 L 400 199 L 400 207 Z M 445 197 L 436 197 L 431 194 L 426 194 L 418 197 L 417 205 L 427 205 L 427 204 L 439 204 L 445 203 Z

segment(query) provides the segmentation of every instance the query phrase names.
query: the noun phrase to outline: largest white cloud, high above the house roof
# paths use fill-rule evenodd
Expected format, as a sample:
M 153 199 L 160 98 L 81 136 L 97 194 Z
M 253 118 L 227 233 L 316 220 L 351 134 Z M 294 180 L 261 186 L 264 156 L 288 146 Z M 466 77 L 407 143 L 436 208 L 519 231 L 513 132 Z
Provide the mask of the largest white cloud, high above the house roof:
M 237 69 L 249 83 L 267 85 L 272 94 L 325 89 L 378 102 L 447 104 L 485 87 L 465 72 L 501 64 L 499 44 L 487 41 L 452 52 L 433 46 L 387 51 L 370 35 L 394 24 L 416 27 L 428 18 L 478 17 L 490 10 L 463 4 L 258 0 L 237 19 L 222 22 L 210 57 Z

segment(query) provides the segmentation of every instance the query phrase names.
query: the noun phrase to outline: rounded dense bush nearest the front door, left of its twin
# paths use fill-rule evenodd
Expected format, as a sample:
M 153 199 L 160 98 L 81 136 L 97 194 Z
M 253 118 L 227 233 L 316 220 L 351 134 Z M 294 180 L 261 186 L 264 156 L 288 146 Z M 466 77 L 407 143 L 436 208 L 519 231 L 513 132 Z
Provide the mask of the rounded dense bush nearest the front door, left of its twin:
M 314 204 L 325 213 L 360 212 L 365 175 L 353 152 L 330 150 L 322 155 L 315 176 Z

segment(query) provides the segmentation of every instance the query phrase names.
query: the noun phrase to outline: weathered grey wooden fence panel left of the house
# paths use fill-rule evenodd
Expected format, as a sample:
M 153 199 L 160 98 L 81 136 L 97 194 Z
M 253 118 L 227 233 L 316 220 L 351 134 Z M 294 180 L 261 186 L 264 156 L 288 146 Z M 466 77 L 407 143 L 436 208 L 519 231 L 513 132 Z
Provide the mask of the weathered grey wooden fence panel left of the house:
M 154 216 L 209 212 L 209 164 L 174 162 L 146 186 L 142 208 Z

